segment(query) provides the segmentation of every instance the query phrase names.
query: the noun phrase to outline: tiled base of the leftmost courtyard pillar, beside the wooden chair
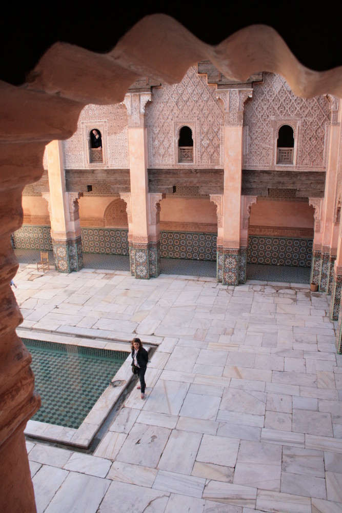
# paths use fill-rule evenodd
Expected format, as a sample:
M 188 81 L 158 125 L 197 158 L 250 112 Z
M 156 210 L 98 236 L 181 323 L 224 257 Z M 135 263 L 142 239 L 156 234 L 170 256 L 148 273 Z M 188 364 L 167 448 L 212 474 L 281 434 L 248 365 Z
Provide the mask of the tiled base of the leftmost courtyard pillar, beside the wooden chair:
M 83 267 L 82 239 L 52 240 L 55 268 L 59 272 L 79 271 Z

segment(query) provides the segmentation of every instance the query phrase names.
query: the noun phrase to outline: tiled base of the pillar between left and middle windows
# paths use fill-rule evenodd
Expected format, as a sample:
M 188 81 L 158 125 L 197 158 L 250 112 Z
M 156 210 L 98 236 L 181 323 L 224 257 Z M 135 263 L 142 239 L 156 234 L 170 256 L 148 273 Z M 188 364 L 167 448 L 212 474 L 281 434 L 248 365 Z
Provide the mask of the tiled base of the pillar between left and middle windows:
M 130 243 L 131 275 L 141 280 L 156 278 L 160 274 L 160 242 Z

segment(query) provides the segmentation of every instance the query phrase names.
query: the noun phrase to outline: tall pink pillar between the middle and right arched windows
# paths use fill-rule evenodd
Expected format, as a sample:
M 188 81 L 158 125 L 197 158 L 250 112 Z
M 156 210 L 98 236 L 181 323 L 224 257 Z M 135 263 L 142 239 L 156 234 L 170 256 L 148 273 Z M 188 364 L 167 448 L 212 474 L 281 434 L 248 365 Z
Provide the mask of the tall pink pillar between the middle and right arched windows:
M 246 240 L 242 241 L 240 250 L 243 111 L 252 92 L 252 89 L 219 89 L 216 92 L 225 106 L 222 229 L 217 233 L 217 281 L 225 285 L 237 285 L 246 275 L 243 270 L 246 267 Z

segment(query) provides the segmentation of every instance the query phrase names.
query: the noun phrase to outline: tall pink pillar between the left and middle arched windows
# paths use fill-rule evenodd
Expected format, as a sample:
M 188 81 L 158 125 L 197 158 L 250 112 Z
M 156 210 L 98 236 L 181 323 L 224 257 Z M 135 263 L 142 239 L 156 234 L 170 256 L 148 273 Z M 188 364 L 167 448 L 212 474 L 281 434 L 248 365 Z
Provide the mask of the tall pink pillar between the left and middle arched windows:
M 151 205 L 148 193 L 147 128 L 144 124 L 145 106 L 151 93 L 129 93 L 125 96 L 128 114 L 128 144 L 131 183 L 131 218 L 129 225 L 129 254 L 131 274 L 149 279 L 160 273 L 159 216 Z M 160 198 L 162 199 L 162 198 Z

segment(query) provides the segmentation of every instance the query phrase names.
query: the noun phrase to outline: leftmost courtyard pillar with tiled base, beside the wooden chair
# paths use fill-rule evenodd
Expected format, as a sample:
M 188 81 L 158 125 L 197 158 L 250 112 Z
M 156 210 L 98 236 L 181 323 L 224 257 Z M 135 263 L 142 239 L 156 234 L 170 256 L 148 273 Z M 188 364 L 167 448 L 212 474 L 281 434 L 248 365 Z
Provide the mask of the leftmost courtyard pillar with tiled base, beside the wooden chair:
M 55 268 L 59 272 L 78 271 L 83 267 L 78 198 L 82 193 L 66 192 L 63 147 L 52 141 L 46 147 L 49 176 L 51 239 Z

